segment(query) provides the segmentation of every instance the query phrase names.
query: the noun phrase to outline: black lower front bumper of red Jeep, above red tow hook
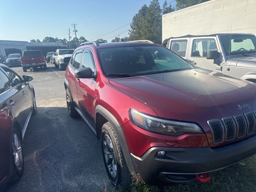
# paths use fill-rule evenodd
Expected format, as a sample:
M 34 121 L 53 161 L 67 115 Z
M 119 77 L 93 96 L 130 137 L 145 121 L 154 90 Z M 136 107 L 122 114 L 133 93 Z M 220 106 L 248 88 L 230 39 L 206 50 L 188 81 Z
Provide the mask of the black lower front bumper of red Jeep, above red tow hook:
M 158 156 L 164 151 L 164 156 Z M 136 172 L 153 185 L 196 180 L 196 174 L 221 170 L 256 154 L 256 136 L 218 148 L 150 148 L 141 158 L 132 156 Z

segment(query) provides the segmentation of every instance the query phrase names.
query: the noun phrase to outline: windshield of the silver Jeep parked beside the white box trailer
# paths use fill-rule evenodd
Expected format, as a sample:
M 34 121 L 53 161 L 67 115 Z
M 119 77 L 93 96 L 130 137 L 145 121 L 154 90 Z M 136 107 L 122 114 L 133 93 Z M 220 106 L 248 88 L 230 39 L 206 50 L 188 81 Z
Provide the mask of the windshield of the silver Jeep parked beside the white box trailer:
M 256 53 L 256 38 L 253 35 L 234 34 L 221 36 L 226 55 Z

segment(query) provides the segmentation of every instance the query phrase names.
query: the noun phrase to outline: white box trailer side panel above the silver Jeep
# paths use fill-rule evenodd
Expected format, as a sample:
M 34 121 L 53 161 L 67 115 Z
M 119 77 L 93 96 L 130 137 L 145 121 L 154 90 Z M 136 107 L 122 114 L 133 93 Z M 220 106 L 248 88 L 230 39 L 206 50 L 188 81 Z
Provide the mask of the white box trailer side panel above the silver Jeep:
M 215 33 L 256 35 L 256 0 L 211 0 L 162 16 L 162 41 Z

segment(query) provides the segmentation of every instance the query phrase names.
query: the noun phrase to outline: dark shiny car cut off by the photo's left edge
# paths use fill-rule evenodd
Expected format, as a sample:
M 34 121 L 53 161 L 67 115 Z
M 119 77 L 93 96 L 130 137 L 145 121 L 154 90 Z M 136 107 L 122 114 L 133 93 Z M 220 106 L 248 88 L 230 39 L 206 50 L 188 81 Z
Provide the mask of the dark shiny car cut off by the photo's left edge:
M 23 174 L 22 140 L 36 113 L 34 88 L 28 83 L 32 79 L 0 64 L 0 190 Z

